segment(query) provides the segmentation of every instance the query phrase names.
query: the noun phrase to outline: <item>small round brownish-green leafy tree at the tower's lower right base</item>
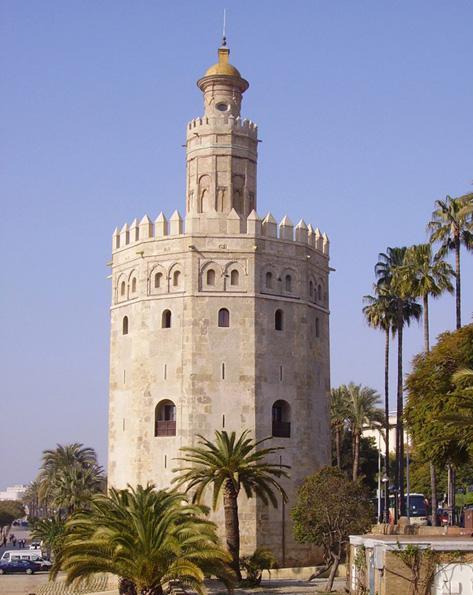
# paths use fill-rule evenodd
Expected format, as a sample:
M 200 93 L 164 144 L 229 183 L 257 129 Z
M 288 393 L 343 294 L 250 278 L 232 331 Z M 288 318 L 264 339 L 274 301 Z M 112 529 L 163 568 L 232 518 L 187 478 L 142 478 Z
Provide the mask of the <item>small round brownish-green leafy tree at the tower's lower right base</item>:
M 371 525 L 372 510 L 364 488 L 339 469 L 324 467 L 305 479 L 292 518 L 296 540 L 322 548 L 323 570 L 330 569 L 325 589 L 331 591 L 349 535 L 364 533 Z

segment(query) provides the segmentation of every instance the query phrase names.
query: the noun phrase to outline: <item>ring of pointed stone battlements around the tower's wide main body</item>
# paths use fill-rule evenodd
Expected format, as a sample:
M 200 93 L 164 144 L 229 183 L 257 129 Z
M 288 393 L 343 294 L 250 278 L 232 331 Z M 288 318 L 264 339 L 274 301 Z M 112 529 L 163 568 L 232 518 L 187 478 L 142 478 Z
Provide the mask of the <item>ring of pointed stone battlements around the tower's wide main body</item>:
M 183 219 L 178 211 L 174 211 L 169 219 L 161 212 L 154 222 L 151 221 L 148 215 L 145 215 L 139 222 L 134 219 L 130 225 L 125 223 L 121 229 L 115 229 L 112 252 L 126 248 L 136 242 L 160 240 L 182 235 L 246 235 L 255 238 L 261 237 L 306 244 L 326 257 L 329 256 L 330 242 L 327 234 L 322 234 L 318 227 L 314 228 L 310 224 L 306 225 L 303 219 L 294 226 L 289 217 L 285 215 L 278 224 L 271 213 L 268 213 L 264 218 L 260 218 L 256 211 L 252 211 L 246 219 L 242 219 L 232 209 L 226 218 L 219 217 L 216 220 L 219 222 L 218 233 L 212 233 L 211 231 L 196 233 L 192 225 L 195 219 L 192 216 Z M 222 229 L 222 224 L 224 229 Z M 191 229 L 192 231 L 190 231 Z

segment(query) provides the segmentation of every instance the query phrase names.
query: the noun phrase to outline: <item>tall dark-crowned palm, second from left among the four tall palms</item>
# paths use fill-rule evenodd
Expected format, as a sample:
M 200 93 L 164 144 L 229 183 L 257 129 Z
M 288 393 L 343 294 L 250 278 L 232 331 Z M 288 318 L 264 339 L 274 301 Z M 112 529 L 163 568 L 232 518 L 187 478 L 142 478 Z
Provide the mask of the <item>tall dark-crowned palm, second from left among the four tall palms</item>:
M 404 422 L 403 422 L 403 367 L 402 349 L 404 325 L 413 319 L 419 320 L 422 307 L 412 297 L 412 283 L 406 279 L 406 247 L 388 248 L 386 253 L 380 253 L 375 266 L 378 278 L 377 287 L 386 291 L 395 299 L 396 316 L 393 331 L 397 334 L 397 411 L 396 411 L 396 491 L 400 495 L 400 512 L 405 515 L 404 499 Z M 397 519 L 397 507 L 395 518 Z

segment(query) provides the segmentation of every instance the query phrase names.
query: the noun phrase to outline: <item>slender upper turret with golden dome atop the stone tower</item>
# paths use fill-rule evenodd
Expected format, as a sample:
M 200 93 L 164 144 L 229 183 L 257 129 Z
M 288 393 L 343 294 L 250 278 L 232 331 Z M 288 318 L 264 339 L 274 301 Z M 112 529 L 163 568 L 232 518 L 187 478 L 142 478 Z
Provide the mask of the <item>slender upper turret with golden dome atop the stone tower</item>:
M 187 128 L 186 214 L 196 232 L 205 233 L 209 220 L 224 220 L 232 209 L 244 218 L 256 209 L 257 128 L 240 118 L 249 84 L 229 56 L 224 39 L 217 64 L 197 81 L 204 115 Z

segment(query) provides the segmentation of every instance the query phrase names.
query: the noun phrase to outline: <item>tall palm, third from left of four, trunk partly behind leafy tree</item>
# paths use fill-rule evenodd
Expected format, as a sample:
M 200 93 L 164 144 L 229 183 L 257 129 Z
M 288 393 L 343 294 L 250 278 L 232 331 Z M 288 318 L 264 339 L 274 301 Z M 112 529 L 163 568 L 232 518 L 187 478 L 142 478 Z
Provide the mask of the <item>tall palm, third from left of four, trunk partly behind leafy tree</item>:
M 430 351 L 429 296 L 437 298 L 445 291 L 453 293 L 452 267 L 441 256 L 434 258 L 431 244 L 417 244 L 406 252 L 406 282 L 411 283 L 411 293 L 422 298 L 424 322 L 424 351 Z M 437 524 L 437 478 L 435 465 L 430 461 L 432 524 Z

